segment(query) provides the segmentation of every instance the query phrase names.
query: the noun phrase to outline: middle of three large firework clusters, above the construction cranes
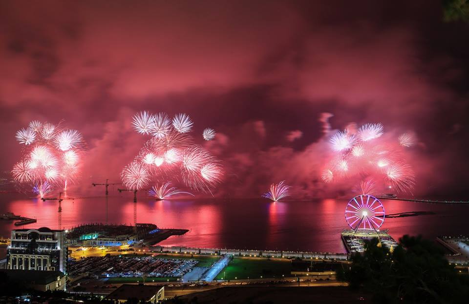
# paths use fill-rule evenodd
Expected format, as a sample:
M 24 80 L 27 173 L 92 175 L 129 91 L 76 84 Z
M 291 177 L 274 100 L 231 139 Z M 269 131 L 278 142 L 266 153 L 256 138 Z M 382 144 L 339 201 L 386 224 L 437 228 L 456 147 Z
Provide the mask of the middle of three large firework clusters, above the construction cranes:
M 134 115 L 132 125 L 138 133 L 152 137 L 121 173 L 128 188 L 141 189 L 150 182 L 166 185 L 164 183 L 170 180 L 183 182 L 193 190 L 211 192 L 221 181 L 223 173 L 219 161 L 202 146 L 194 144 L 189 134 L 193 126 L 189 115 L 177 114 L 170 120 L 166 113 L 141 112 Z M 214 134 L 212 130 L 204 138 L 209 140 Z

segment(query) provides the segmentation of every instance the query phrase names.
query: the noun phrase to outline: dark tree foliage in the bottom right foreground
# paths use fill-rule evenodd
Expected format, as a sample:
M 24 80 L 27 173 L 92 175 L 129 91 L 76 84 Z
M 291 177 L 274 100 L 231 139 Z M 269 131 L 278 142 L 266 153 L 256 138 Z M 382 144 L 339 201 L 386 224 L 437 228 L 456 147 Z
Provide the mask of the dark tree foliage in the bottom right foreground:
M 399 241 L 392 252 L 376 238 L 366 242 L 339 277 L 376 303 L 468 303 L 469 276 L 449 265 L 439 247 L 421 236 Z

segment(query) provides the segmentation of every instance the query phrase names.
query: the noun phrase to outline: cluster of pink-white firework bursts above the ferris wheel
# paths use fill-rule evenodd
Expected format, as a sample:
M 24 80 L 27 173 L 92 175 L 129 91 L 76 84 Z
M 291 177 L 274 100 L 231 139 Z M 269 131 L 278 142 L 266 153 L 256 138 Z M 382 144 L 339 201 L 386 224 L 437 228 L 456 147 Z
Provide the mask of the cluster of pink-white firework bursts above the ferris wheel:
M 330 137 L 330 161 L 321 172 L 321 179 L 333 183 L 369 176 L 374 182 L 359 185 L 358 189 L 365 186 L 368 189 L 372 183 L 398 192 L 410 192 L 415 185 L 415 175 L 405 163 L 403 147 L 411 146 L 413 138 L 411 133 L 404 133 L 397 141 L 390 140 L 381 123 L 364 124 L 359 128 L 351 124 Z

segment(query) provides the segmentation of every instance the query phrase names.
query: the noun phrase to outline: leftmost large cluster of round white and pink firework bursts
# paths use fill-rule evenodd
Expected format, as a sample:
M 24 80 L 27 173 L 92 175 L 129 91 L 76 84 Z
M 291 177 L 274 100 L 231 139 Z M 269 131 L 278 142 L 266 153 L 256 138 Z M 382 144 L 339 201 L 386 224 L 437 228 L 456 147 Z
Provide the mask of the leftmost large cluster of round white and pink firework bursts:
M 46 193 L 79 176 L 85 141 L 78 131 L 63 129 L 61 123 L 33 120 L 16 133 L 16 139 L 23 145 L 22 156 L 11 172 L 21 188 L 30 186 L 35 193 L 41 189 Z

